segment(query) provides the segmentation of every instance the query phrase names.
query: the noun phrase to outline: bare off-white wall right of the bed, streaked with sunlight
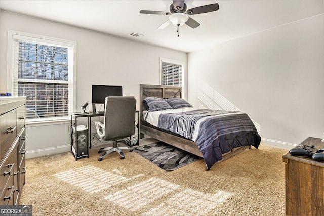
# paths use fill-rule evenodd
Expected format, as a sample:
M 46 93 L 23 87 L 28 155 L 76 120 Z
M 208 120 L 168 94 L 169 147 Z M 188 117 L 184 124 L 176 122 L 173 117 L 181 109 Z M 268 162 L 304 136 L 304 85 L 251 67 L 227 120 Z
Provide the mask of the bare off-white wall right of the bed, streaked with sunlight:
M 246 112 L 264 144 L 322 138 L 324 15 L 189 53 L 188 87 L 195 106 Z

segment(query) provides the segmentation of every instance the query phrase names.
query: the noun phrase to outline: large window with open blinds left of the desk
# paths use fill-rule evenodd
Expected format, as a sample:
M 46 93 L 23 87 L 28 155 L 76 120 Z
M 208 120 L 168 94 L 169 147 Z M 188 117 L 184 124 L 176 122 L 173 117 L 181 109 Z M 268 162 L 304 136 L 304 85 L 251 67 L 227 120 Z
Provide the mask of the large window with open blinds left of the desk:
M 73 107 L 75 44 L 13 35 L 12 93 L 26 96 L 26 119 L 68 117 Z

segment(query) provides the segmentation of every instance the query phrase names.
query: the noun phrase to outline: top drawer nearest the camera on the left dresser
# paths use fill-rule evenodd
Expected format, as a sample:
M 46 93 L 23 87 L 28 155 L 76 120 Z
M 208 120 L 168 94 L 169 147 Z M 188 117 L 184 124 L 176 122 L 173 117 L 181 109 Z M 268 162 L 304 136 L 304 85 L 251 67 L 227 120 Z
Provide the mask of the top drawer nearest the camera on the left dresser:
M 12 110 L 0 116 L 0 155 L 6 155 L 17 137 L 16 119 L 17 110 Z

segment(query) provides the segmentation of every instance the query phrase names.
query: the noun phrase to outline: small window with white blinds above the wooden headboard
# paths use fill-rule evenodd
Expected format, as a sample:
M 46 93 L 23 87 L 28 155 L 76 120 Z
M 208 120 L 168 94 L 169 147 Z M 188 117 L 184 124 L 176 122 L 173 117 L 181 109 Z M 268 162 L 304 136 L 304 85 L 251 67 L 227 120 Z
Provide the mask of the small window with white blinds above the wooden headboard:
M 183 85 L 183 62 L 161 59 L 161 85 Z

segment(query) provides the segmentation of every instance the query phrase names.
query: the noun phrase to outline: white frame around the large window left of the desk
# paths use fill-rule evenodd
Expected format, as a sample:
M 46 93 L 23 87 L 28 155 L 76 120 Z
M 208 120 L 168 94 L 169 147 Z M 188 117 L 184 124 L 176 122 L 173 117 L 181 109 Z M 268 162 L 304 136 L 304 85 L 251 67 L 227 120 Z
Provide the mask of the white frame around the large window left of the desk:
M 13 88 L 13 82 L 14 79 L 14 60 L 15 60 L 15 40 L 23 40 L 26 42 L 32 42 L 32 43 L 40 43 L 45 44 L 49 46 L 61 46 L 66 47 L 69 50 L 69 56 L 68 56 L 68 67 L 69 71 L 72 71 L 72 74 L 69 73 L 69 103 L 71 105 L 69 106 L 69 111 L 72 112 L 75 110 L 75 104 L 76 104 L 76 86 L 75 86 L 75 80 L 76 80 L 76 41 L 69 41 L 54 37 L 48 37 L 48 36 L 42 36 L 42 35 L 36 35 L 36 34 L 30 34 L 25 32 L 19 32 L 19 31 L 12 31 L 8 30 L 8 61 L 7 61 L 7 92 L 12 93 L 13 96 L 17 96 L 17 92 L 14 92 Z M 17 58 L 17 57 L 16 57 Z M 60 121 L 60 120 L 69 120 L 70 113 L 68 116 L 65 117 L 55 117 L 55 118 L 41 118 L 41 119 L 27 119 L 26 123 L 28 122 L 41 122 L 41 121 Z

